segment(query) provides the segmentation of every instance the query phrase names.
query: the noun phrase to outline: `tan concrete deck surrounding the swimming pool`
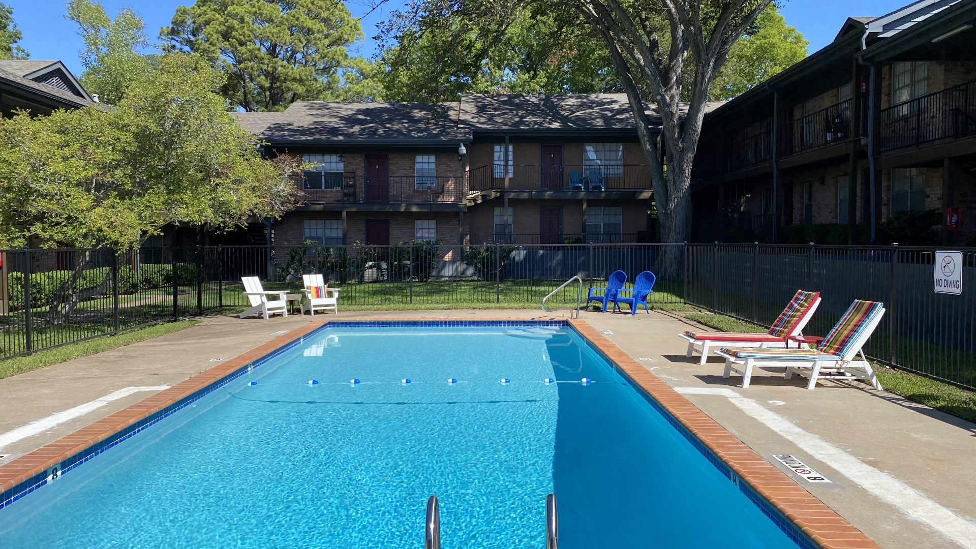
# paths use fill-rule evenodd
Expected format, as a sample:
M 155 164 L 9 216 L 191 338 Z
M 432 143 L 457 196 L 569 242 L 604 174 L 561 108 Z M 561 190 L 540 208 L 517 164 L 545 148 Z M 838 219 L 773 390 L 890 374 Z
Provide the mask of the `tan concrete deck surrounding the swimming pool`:
M 565 316 L 483 310 L 327 317 Z M 720 360 L 698 365 L 697 357 L 684 358 L 686 344 L 676 337 L 688 329 L 682 319 L 661 313 L 584 313 L 583 319 L 631 358 L 650 359 L 638 363 L 882 547 L 976 548 L 976 425 L 862 384 L 825 381 L 807 391 L 804 379 L 757 372 L 743 390 L 741 378 L 721 378 Z M 210 359 L 229 359 L 311 320 L 212 317 L 180 332 L 0 380 L 0 454 L 10 454 L 0 464 L 219 363 Z M 793 454 L 832 483 L 807 484 L 772 454 Z

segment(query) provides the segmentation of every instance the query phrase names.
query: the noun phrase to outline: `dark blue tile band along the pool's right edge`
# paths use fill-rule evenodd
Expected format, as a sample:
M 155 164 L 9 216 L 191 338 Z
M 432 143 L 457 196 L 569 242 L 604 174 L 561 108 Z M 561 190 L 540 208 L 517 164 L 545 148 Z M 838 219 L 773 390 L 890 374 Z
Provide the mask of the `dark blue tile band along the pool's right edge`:
M 779 509 L 774 507 L 773 504 L 769 502 L 769 500 L 767 500 L 761 494 L 756 492 L 752 488 L 752 486 L 749 485 L 749 483 L 747 483 L 742 477 L 740 477 L 735 471 L 733 471 L 728 465 L 726 465 L 725 462 L 722 461 L 721 458 L 719 458 L 717 455 L 715 455 L 715 453 L 712 452 L 712 450 L 708 446 L 702 443 L 702 441 L 697 436 L 695 436 L 694 433 L 692 433 L 691 431 L 688 430 L 687 427 L 682 425 L 681 422 L 678 421 L 677 418 L 674 417 L 670 411 L 668 411 L 664 406 L 661 405 L 661 402 L 657 401 L 654 398 L 654 396 L 652 396 L 643 387 L 641 387 L 639 383 L 634 381 L 630 377 L 630 375 L 628 375 L 628 373 L 624 371 L 623 368 L 617 365 L 617 362 L 615 362 L 613 359 L 608 357 L 603 351 L 599 349 L 599 347 L 597 347 L 593 342 L 591 342 L 590 338 L 584 335 L 580 330 L 576 329 L 576 326 L 573 326 L 568 322 L 566 325 L 567 327 L 572 329 L 574 333 L 576 333 L 576 335 L 580 336 L 580 339 L 587 342 L 587 345 L 590 346 L 590 349 L 592 349 L 593 352 L 595 352 L 600 358 L 606 360 L 606 362 L 610 364 L 610 366 L 613 367 L 613 369 L 617 373 L 619 373 L 620 376 L 624 378 L 624 380 L 627 381 L 630 387 L 633 388 L 637 392 L 637 394 L 640 395 L 645 401 L 650 403 L 651 406 L 653 406 L 654 409 L 657 410 L 657 412 L 661 414 L 668 421 L 668 423 L 670 423 L 671 426 L 674 429 L 676 429 L 677 432 L 681 434 L 681 436 L 685 438 L 685 440 L 688 441 L 688 443 L 691 443 L 691 445 L 695 446 L 695 448 L 699 452 L 701 452 L 702 455 L 705 456 L 705 458 L 708 459 L 710 463 L 712 463 L 712 465 L 715 467 L 715 469 L 718 470 L 719 473 L 721 473 L 733 485 L 738 486 L 739 490 L 742 491 L 743 494 L 745 494 L 746 497 L 750 501 L 752 501 L 752 503 L 756 507 L 759 508 L 759 511 L 761 511 L 762 514 L 768 517 L 769 520 L 771 520 L 773 524 L 776 525 L 777 528 L 780 528 L 780 530 L 782 530 L 783 533 L 785 533 L 787 537 L 789 537 L 793 541 L 793 543 L 797 545 L 797 547 L 801 549 L 821 549 L 821 545 L 819 543 L 810 539 L 810 537 L 806 533 L 804 533 L 803 530 L 797 527 L 793 523 L 793 521 L 790 520 L 790 518 L 788 518 L 786 515 L 780 512 Z

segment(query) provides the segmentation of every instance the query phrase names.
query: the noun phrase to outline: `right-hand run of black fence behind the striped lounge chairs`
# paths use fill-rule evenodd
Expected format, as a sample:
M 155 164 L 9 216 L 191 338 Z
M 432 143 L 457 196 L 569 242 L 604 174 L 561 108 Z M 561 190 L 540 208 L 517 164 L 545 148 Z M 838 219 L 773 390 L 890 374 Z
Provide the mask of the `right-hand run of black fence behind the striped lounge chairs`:
M 805 330 L 823 335 L 855 299 L 884 303 L 865 352 L 976 388 L 976 249 L 962 251 L 961 295 L 935 293 L 934 248 L 688 244 L 685 302 L 770 325 L 798 288 L 821 292 Z

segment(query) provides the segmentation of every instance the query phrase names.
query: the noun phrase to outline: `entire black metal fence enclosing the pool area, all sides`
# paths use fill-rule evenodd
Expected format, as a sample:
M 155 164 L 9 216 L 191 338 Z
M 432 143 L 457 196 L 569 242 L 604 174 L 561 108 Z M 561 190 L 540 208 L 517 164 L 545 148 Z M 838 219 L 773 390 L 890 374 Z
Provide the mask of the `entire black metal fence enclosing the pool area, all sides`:
M 976 388 L 976 249 L 962 250 L 961 295 L 932 289 L 935 249 L 766 244 L 399 244 L 222 246 L 3 252 L 0 359 L 143 326 L 247 307 L 242 276 L 264 289 L 323 274 L 340 310 L 535 309 L 567 278 L 600 286 L 618 269 L 658 274 L 651 303 L 690 304 L 769 325 L 797 288 L 823 301 L 824 334 L 855 299 L 887 313 L 866 351 L 892 365 Z M 576 288 L 549 300 L 575 305 Z

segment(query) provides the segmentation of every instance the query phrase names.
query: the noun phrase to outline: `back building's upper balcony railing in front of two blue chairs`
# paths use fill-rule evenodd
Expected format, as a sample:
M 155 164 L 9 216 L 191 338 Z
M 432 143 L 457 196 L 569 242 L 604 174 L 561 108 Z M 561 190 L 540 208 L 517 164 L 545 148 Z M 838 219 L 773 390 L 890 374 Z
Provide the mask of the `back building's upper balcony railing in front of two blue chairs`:
M 471 168 L 471 190 L 505 189 L 506 166 Z M 555 164 L 508 167 L 509 190 L 649 190 L 651 173 L 642 164 Z

